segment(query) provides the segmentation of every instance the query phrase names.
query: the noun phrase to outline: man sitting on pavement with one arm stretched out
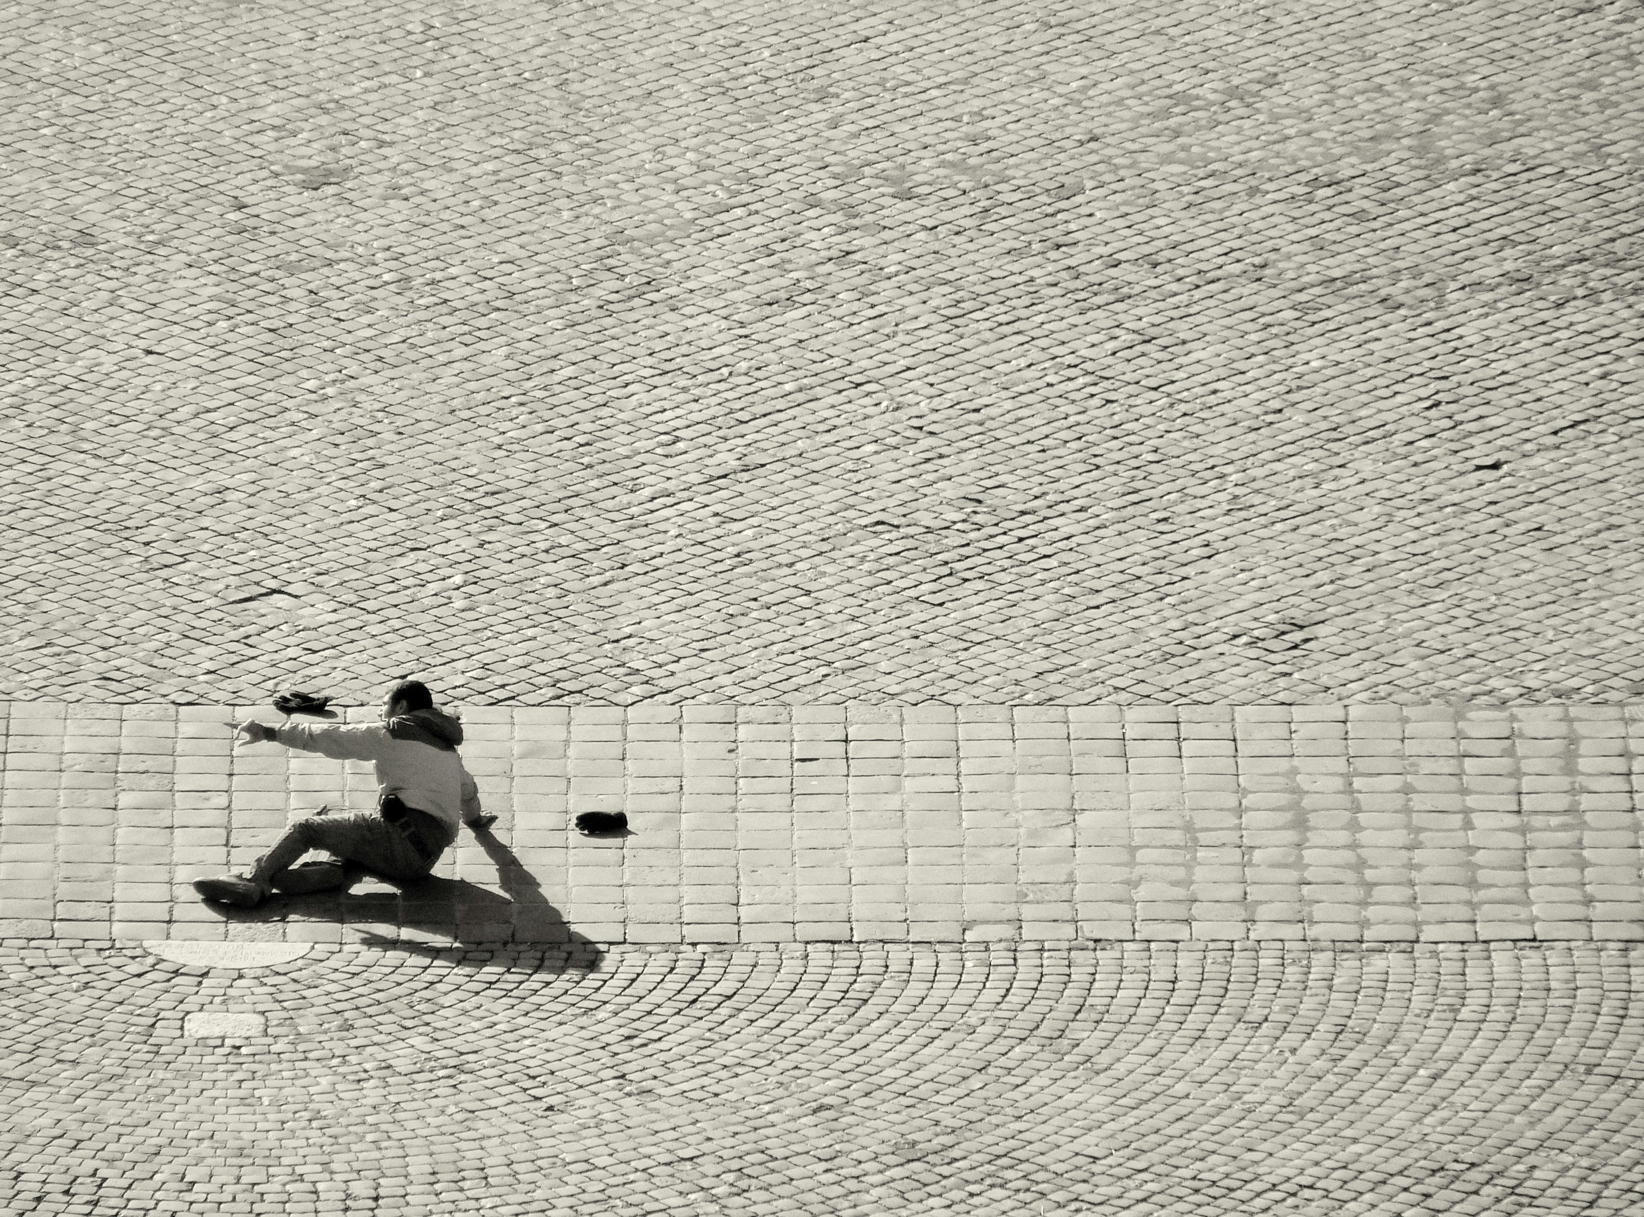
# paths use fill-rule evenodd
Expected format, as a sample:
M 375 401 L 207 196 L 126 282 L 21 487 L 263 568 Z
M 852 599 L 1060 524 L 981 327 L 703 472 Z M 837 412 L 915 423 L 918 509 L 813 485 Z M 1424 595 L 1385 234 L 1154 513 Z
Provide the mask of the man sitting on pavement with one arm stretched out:
M 496 822 L 480 814 L 478 788 L 457 755 L 462 724 L 434 709 L 421 681 L 401 681 L 388 692 L 381 725 L 243 722 L 238 730 L 247 743 L 276 740 L 337 760 L 375 761 L 378 804 L 376 811 L 353 816 L 327 816 L 321 807 L 299 819 L 250 875 L 194 880 L 194 890 L 207 900 L 255 908 L 275 890 L 296 895 L 340 888 L 362 870 L 416 880 L 457 839 L 459 822 L 475 831 Z M 298 867 L 298 858 L 314 849 L 330 852 L 330 860 Z

